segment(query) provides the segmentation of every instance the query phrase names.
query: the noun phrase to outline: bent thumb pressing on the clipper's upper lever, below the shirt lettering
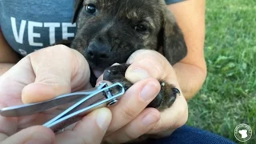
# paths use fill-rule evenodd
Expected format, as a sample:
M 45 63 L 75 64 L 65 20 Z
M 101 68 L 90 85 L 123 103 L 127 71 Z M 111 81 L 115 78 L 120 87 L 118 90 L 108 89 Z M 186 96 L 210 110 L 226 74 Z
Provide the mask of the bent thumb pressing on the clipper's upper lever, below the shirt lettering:
M 41 102 L 71 90 L 81 90 L 89 83 L 90 68 L 78 51 L 57 45 L 29 55 L 34 70 L 33 83 L 22 90 L 22 102 Z

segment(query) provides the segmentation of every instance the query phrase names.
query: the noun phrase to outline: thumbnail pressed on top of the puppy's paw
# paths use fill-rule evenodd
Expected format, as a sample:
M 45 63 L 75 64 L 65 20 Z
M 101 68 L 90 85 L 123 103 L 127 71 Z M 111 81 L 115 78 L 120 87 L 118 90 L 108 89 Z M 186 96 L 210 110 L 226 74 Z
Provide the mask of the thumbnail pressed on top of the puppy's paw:
M 138 82 L 144 78 L 150 77 L 150 74 L 144 69 L 141 68 L 135 68 L 134 70 L 130 70 L 128 73 L 129 80 L 131 82 Z

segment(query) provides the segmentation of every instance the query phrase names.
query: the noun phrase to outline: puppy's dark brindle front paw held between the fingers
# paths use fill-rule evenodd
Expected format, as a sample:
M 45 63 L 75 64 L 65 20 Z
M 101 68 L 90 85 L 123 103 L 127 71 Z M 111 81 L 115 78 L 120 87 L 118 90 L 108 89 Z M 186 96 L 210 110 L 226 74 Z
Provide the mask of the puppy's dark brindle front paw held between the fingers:
M 128 90 L 133 85 L 132 82 L 125 78 L 126 70 L 130 66 L 129 64 L 121 64 L 117 66 L 110 66 L 104 71 L 103 79 L 110 82 L 120 82 L 124 86 L 125 90 Z M 179 90 L 174 86 L 167 84 L 162 80 L 158 80 L 161 85 L 161 90 L 157 97 L 147 107 L 154 107 L 159 111 L 165 110 L 170 107 L 175 99 Z

